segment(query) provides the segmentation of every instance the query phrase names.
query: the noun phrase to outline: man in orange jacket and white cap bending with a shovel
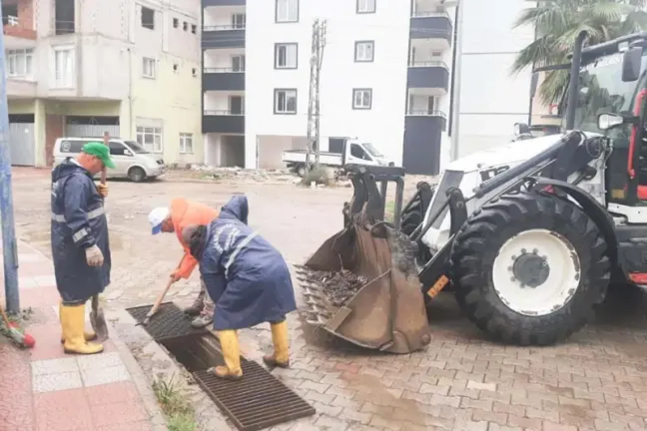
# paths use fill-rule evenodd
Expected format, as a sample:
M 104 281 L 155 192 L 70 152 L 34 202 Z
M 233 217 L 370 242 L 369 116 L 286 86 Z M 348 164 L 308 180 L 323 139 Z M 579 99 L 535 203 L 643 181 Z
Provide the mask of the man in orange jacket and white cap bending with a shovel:
M 153 227 L 153 235 L 160 232 L 175 232 L 177 239 L 184 249 L 184 256 L 177 269 L 171 272 L 173 283 L 181 278 L 189 278 L 198 264 L 191 256 L 188 245 L 182 240 L 182 229 L 191 225 L 209 225 L 219 215 L 218 210 L 204 204 L 186 199 L 177 198 L 171 201 L 169 208 L 155 208 L 148 215 L 148 221 Z M 214 320 L 214 302 L 206 291 L 202 276 L 200 277 L 200 293 L 193 305 L 184 309 L 184 313 L 197 316 L 191 325 L 196 328 L 205 327 Z

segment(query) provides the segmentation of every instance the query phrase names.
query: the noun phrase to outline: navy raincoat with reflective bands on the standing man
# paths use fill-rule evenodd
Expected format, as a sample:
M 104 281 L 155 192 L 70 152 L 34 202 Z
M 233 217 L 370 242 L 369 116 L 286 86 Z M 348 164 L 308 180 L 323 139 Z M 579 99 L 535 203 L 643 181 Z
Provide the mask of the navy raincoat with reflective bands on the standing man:
M 97 245 L 104 265 L 91 267 L 85 249 Z M 52 170 L 52 257 L 64 304 L 82 304 L 110 284 L 108 225 L 90 175 L 71 158 Z

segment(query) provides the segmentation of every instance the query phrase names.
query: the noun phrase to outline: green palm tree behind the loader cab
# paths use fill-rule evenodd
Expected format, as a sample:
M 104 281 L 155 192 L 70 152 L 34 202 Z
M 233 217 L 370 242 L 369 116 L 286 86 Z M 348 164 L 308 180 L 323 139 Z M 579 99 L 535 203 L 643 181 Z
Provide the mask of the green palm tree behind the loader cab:
M 537 38 L 522 49 L 512 73 L 526 67 L 567 63 L 575 39 L 588 33 L 587 45 L 595 45 L 647 28 L 647 0 L 542 0 L 521 12 L 513 28 L 532 25 Z M 539 89 L 546 104 L 557 102 L 568 83 L 568 71 L 547 72 Z

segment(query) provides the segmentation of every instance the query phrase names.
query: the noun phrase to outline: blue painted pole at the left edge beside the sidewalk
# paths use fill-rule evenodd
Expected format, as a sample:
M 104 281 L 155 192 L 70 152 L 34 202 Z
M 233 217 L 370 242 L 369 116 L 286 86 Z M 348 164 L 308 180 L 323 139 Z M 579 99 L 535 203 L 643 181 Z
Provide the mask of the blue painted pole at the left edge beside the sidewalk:
M 0 0 L 2 10 L 2 0 Z M 9 313 L 20 313 L 18 293 L 18 249 L 14 226 L 14 197 L 11 186 L 11 153 L 9 149 L 9 106 L 6 102 L 5 35 L 0 30 L 0 217 L 2 217 L 3 263 L 5 264 L 5 298 Z

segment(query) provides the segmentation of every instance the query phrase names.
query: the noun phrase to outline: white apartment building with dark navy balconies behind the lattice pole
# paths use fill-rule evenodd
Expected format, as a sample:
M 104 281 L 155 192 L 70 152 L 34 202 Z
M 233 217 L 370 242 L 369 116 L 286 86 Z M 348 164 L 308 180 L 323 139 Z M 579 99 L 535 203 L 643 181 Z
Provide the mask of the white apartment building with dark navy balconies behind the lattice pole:
M 409 173 L 435 174 L 453 123 L 461 155 L 505 142 L 529 109 L 529 73 L 507 72 L 528 43 L 511 28 L 527 2 L 501 1 L 503 12 L 461 0 L 457 52 L 455 0 L 202 0 L 206 162 L 278 168 L 284 149 L 305 148 L 316 18 L 327 19 L 323 151 L 357 137 Z

